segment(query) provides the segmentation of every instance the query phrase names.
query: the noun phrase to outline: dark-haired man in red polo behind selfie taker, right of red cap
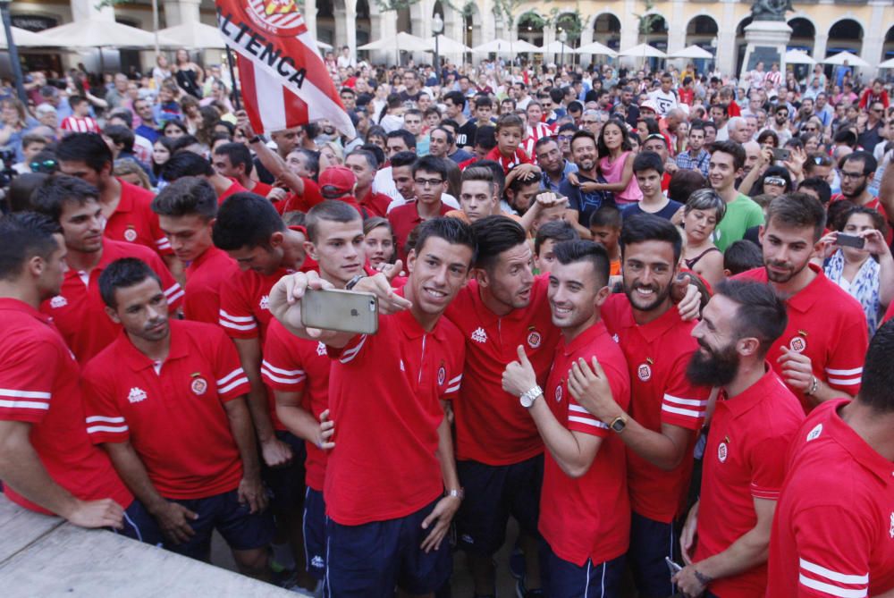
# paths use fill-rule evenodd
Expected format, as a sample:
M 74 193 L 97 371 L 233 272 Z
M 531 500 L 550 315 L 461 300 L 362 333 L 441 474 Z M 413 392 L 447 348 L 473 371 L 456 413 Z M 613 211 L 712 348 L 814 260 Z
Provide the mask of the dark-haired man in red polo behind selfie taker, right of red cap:
M 405 246 L 409 233 L 419 223 L 443 216 L 451 209 L 441 200 L 442 194 L 447 191 L 447 164 L 443 163 L 443 158 L 420 157 L 413 163 L 412 174 L 415 201 L 394 207 L 388 212 L 388 221 L 392 225 L 401 259 L 407 258 Z

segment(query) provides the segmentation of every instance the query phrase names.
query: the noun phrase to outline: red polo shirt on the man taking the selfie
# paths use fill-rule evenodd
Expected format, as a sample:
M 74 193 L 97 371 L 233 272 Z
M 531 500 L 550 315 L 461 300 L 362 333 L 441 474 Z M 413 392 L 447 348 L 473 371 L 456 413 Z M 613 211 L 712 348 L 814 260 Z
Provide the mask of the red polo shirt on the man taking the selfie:
M 405 517 L 441 496 L 440 401 L 460 390 L 460 331 L 444 317 L 426 332 L 409 311 L 380 315 L 378 333 L 329 355 L 337 432 L 326 466 L 326 515 L 359 526 Z

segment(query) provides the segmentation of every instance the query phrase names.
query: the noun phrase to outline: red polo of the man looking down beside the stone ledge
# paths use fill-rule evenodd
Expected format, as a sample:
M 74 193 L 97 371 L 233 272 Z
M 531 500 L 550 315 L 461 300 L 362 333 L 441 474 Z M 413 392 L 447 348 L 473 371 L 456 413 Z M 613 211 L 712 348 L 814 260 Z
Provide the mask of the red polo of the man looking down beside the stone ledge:
M 213 324 L 171 321 L 156 364 L 118 336 L 84 367 L 87 432 L 131 442 L 165 498 L 199 499 L 239 486 L 242 461 L 223 403 L 249 392 L 232 341 Z

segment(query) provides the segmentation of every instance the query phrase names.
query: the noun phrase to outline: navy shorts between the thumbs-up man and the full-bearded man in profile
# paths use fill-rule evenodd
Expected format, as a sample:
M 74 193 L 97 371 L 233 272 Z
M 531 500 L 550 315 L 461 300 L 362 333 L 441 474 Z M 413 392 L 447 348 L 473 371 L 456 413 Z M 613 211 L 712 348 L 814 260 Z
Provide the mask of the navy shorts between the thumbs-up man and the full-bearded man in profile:
M 671 570 L 665 557 L 679 560 L 679 535 L 672 523 L 662 523 L 637 513 L 630 516 L 630 548 L 627 552 L 637 592 L 644 598 L 671 596 Z

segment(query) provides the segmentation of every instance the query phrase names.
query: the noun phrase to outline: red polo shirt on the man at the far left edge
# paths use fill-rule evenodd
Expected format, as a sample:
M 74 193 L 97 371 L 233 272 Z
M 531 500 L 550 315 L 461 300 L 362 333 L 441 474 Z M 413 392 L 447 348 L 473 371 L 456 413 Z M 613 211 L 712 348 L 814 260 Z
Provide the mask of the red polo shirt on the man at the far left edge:
M 0 420 L 31 425 L 31 446 L 56 484 L 81 501 L 111 498 L 124 509 L 133 495 L 84 426 L 80 367 L 51 318 L 18 299 L 0 298 Z M 6 484 L 16 504 L 46 509 Z

